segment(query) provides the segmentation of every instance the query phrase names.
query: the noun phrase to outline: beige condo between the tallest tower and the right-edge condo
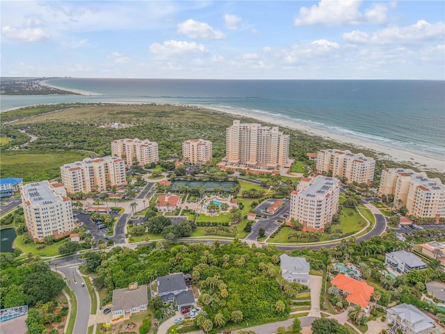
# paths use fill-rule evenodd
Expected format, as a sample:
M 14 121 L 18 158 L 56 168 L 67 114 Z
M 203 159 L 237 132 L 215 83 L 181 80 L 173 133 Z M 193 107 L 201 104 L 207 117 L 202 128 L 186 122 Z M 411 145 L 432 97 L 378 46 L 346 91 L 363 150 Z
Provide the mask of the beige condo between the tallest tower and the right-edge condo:
M 332 170 L 334 177 L 346 177 L 347 183 L 371 184 L 374 180 L 375 160 L 349 150 L 321 150 L 317 152 L 316 168 L 319 173 Z

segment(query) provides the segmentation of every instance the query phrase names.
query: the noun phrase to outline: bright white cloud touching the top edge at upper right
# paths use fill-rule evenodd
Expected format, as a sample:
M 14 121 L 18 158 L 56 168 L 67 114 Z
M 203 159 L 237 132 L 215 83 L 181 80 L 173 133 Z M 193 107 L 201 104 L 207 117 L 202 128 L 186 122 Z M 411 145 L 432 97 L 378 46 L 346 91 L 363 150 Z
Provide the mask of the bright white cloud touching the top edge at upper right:
M 387 10 L 394 8 L 395 3 L 373 3 L 365 13 L 360 12 L 361 5 L 362 1 L 359 0 L 321 0 L 311 8 L 300 8 L 295 25 L 343 26 L 366 22 L 382 24 L 387 21 Z

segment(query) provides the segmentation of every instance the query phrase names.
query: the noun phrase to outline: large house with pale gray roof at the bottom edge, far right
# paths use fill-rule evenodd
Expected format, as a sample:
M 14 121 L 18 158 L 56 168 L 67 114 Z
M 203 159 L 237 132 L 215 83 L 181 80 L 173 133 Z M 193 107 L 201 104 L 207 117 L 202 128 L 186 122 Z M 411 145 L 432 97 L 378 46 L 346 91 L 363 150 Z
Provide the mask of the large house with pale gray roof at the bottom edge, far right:
M 428 334 L 435 326 L 433 319 L 410 304 L 403 303 L 386 312 L 388 323 L 393 324 L 389 333 L 397 333 L 400 329 L 404 334 Z

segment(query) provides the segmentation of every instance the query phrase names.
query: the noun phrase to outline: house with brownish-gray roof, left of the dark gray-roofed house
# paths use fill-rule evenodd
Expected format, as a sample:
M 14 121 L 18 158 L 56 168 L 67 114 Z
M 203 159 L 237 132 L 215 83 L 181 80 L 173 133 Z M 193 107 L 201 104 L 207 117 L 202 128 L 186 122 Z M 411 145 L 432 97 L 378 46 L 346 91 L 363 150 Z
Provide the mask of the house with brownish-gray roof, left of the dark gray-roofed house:
M 113 290 L 112 303 L 111 311 L 113 312 L 113 317 L 119 317 L 120 315 L 124 315 L 124 317 L 127 315 L 131 316 L 133 313 L 147 310 L 147 285 L 131 283 L 129 287 L 124 289 Z

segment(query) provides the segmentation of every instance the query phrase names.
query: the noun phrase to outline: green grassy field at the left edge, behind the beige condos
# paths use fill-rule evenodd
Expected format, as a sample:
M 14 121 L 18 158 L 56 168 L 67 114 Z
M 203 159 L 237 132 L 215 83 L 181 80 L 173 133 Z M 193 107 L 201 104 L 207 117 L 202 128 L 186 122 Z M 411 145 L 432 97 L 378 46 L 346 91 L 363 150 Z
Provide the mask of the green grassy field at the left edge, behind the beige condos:
M 24 182 L 60 177 L 60 166 L 89 157 L 78 151 L 3 151 L 1 177 L 23 177 Z

